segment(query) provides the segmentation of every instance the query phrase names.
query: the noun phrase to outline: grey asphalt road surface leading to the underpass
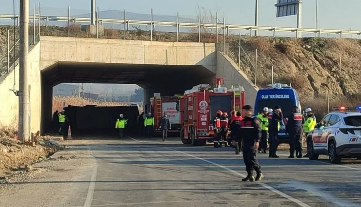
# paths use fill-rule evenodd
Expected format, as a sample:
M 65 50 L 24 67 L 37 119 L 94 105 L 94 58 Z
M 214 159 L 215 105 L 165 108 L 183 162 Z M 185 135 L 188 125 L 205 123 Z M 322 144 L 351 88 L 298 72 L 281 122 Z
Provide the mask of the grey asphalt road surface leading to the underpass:
M 288 159 L 287 151 L 278 159 L 259 154 L 264 179 L 241 182 L 246 174 L 242 156 L 232 148 L 160 139 L 69 141 L 72 148 L 60 153 L 86 162 L 64 161 L 59 172 L 14 182 L 15 188 L 0 191 L 0 206 L 361 206 L 361 162 L 355 159 L 333 165 L 326 156 L 311 161 Z

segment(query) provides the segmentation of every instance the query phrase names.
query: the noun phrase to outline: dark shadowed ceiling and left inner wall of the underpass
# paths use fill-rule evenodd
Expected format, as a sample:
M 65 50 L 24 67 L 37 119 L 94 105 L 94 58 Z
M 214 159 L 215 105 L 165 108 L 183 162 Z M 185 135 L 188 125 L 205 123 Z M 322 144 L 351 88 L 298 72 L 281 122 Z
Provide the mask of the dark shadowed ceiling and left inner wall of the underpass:
M 137 84 L 144 89 L 146 105 L 154 93 L 183 94 L 195 85 L 212 84 L 214 79 L 215 73 L 201 65 L 57 62 L 41 71 L 41 133 L 52 131 L 53 86 L 60 83 Z

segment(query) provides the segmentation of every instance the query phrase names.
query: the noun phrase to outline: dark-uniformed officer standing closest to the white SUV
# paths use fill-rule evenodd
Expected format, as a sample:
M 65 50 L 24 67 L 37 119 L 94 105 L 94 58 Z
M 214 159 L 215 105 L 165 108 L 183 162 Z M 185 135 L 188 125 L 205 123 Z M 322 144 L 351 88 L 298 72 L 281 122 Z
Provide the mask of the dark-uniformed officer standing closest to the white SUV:
M 290 156 L 288 158 L 295 158 L 295 148 L 297 158 L 302 158 L 302 125 L 304 124 L 304 117 L 299 112 L 297 106 L 293 107 L 291 115 L 288 117 L 286 124 L 286 133 L 289 134 L 290 142 Z

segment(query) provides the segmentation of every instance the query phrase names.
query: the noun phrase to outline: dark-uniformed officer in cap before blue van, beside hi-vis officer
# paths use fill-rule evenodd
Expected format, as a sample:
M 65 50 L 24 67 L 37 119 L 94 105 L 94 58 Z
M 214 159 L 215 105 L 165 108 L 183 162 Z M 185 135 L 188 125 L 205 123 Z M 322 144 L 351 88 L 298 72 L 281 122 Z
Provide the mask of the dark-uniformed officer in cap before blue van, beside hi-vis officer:
M 280 122 L 283 119 L 281 106 L 277 105 L 273 112 L 268 113 L 268 133 L 269 133 L 269 155 L 268 157 L 279 158 L 276 151 L 278 148 L 278 132 L 280 130 Z

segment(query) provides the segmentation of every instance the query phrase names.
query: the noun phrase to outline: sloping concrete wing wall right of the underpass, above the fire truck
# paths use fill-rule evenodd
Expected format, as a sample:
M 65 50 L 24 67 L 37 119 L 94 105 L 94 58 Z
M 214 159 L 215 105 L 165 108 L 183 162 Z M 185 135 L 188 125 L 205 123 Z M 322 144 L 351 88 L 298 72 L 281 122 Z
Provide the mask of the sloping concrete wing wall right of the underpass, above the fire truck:
M 230 88 L 232 85 L 241 85 L 246 93 L 246 104 L 254 107 L 256 94 L 259 88 L 255 86 L 245 75 L 238 69 L 238 65 L 229 57 L 221 52 L 217 52 L 217 77 L 224 78 L 224 85 Z

